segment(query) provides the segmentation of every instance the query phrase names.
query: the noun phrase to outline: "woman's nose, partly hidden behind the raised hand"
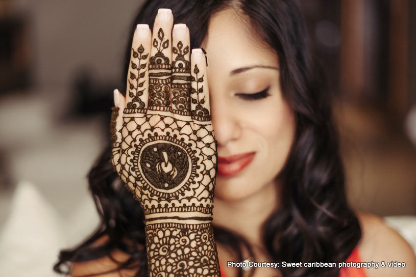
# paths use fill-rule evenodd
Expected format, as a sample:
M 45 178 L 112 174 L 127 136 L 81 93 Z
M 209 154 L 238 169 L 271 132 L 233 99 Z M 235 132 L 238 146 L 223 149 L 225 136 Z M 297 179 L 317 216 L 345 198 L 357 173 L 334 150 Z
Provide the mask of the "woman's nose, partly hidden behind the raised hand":
M 224 99 L 210 98 L 212 127 L 218 147 L 225 147 L 241 136 L 238 113 Z

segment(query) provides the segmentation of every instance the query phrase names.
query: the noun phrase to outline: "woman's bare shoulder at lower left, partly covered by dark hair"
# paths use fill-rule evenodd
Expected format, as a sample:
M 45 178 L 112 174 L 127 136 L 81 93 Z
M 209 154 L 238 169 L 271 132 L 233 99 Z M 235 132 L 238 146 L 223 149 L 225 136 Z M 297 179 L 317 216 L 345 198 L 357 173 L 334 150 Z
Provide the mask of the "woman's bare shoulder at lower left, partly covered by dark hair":
M 102 241 L 97 241 L 100 243 Z M 115 250 L 111 253 L 111 257 L 105 256 L 88 262 L 73 263 L 71 267 L 72 277 L 81 277 L 86 275 L 94 275 L 97 277 L 131 277 L 136 274 L 136 270 L 118 269 L 119 263 L 123 263 L 130 258 L 130 255 Z

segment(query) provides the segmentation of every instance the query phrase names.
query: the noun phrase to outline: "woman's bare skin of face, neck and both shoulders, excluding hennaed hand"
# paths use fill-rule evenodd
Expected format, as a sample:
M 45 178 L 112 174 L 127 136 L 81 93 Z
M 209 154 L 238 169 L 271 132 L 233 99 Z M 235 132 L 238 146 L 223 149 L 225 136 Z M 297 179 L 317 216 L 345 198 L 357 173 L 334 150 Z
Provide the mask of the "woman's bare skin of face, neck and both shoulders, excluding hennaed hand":
M 218 156 L 255 153 L 249 165 L 237 174 L 217 176 L 213 223 L 246 237 L 253 245 L 257 261 L 270 261 L 264 255 L 260 231 L 264 220 L 279 205 L 275 180 L 293 143 L 296 122 L 282 97 L 278 57 L 246 28 L 233 10 L 219 12 L 210 21 L 203 45 L 209 61 L 210 107 Z M 268 68 L 251 68 L 235 73 L 236 69 L 252 66 Z M 270 88 L 266 98 L 247 100 L 247 96 L 242 96 L 266 88 Z M 365 269 L 369 277 L 416 275 L 416 257 L 399 234 L 374 215 L 359 213 L 358 218 L 363 231 L 358 245 L 363 262 L 406 263 L 405 268 Z M 226 262 L 234 259 L 221 245 L 217 246 L 220 264 L 228 276 L 234 276 L 236 271 L 226 267 Z M 114 258 L 125 261 L 128 257 L 114 252 Z M 100 273 L 116 267 L 108 258 L 76 263 L 72 276 Z M 99 276 L 128 276 L 132 273 L 116 271 Z M 259 268 L 255 272 L 255 276 L 276 275 L 280 275 L 279 272 L 272 269 Z

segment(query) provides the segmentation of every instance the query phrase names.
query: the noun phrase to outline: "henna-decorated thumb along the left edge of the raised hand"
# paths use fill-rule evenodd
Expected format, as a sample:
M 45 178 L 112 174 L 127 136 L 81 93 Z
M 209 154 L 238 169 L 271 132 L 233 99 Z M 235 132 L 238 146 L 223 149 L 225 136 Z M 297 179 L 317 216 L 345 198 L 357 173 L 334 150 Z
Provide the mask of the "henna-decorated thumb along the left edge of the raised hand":
M 122 137 L 120 130 L 123 127 L 123 108 L 125 107 L 126 99 L 118 90 L 114 90 L 114 107 L 111 114 L 110 123 L 110 136 L 111 136 L 111 147 L 112 155 L 111 159 L 114 165 L 114 170 L 119 173 L 121 170 L 120 165 L 120 146 Z

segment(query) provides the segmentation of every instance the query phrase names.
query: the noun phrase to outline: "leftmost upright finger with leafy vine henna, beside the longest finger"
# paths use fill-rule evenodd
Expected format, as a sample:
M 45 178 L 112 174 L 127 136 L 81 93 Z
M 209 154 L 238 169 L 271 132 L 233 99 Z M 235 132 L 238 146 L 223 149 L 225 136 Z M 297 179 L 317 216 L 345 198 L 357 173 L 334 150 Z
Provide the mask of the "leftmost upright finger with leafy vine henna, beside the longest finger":
M 152 36 L 148 24 L 138 24 L 133 35 L 125 114 L 145 113 L 149 101 L 149 59 Z

